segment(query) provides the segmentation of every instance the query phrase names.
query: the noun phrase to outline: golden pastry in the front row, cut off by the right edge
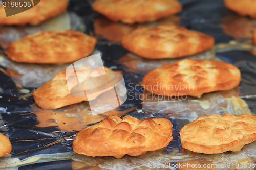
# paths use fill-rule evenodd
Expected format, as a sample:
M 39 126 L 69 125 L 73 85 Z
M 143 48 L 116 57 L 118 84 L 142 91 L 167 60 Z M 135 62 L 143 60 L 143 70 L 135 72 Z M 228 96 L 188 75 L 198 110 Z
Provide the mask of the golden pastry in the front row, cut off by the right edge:
M 237 152 L 256 140 L 256 116 L 227 113 L 200 116 L 181 128 L 180 138 L 182 147 L 193 152 Z

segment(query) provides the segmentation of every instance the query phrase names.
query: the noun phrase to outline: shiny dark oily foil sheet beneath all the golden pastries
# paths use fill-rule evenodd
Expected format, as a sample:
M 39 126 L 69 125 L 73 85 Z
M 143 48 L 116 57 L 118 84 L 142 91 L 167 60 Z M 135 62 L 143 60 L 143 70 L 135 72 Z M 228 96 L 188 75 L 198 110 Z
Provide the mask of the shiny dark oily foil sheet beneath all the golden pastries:
M 91 10 L 83 0 L 70 1 L 69 12 L 39 26 L 0 27 L 0 132 L 12 143 L 10 155 L 0 158 L 0 168 L 7 169 L 175 169 L 168 165 L 207 164 L 222 168 L 227 163 L 255 163 L 256 143 L 246 145 L 240 152 L 198 154 L 181 147 L 179 131 L 198 116 L 210 114 L 233 115 L 256 113 L 256 60 L 253 54 L 252 28 L 255 21 L 240 17 L 225 9 L 222 1 L 181 0 L 183 11 L 153 23 L 125 25 L 114 23 Z M 76 11 L 75 14 L 72 11 Z M 225 61 L 241 70 L 238 87 L 228 91 L 204 94 L 202 98 L 182 100 L 152 98 L 140 85 L 150 70 L 178 59 L 148 60 L 127 52 L 120 44 L 121 37 L 142 26 L 174 23 L 215 37 L 212 49 L 184 58 Z M 243 24 L 242 24 L 243 23 Z M 236 26 L 237 29 L 231 29 Z M 239 26 L 239 27 L 238 27 Z M 128 100 L 120 107 L 93 116 L 88 102 L 46 110 L 33 100 L 34 89 L 50 80 L 67 64 L 15 63 L 4 53 L 7 45 L 27 34 L 49 29 L 73 29 L 97 38 L 94 54 L 100 53 L 104 65 L 122 71 Z M 132 84 L 129 84 L 132 83 Z M 136 86 L 136 88 L 135 88 Z M 102 99 L 107 100 L 107 99 Z M 81 129 L 100 122 L 109 115 L 131 115 L 139 119 L 164 117 L 173 124 L 174 139 L 169 145 L 144 156 L 88 157 L 72 150 L 72 141 Z M 247 166 L 249 167 L 249 166 Z M 182 168 L 180 168 L 182 169 Z M 185 167 L 183 168 L 185 169 Z M 232 169 L 232 168 L 230 168 Z M 240 168 L 237 169 L 246 169 Z

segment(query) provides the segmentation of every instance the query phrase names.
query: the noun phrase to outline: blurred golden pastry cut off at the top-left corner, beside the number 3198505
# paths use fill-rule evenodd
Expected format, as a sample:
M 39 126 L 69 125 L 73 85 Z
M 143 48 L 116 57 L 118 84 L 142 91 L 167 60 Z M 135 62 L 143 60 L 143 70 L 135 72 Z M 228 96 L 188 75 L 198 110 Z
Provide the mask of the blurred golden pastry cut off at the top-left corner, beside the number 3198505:
M 51 17 L 54 17 L 68 7 L 67 0 L 41 0 L 35 7 L 22 13 L 6 17 L 3 5 L 0 6 L 1 25 L 38 25 Z

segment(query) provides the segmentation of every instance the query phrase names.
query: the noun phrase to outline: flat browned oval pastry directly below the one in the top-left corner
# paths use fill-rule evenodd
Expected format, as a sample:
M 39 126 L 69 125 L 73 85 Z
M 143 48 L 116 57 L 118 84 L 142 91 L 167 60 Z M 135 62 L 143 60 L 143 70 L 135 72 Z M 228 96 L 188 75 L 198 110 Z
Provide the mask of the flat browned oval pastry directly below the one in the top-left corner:
M 90 55 L 96 41 L 94 37 L 73 30 L 41 31 L 11 43 L 6 54 L 15 62 L 74 62 Z

